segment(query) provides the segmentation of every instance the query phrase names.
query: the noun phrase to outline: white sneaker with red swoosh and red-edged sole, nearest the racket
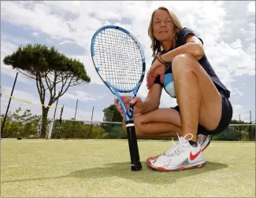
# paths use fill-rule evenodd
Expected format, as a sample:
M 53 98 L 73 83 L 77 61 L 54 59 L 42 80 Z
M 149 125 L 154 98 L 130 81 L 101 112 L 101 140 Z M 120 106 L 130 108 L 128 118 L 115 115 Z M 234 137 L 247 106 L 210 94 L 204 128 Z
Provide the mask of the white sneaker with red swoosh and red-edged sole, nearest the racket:
M 191 139 L 186 139 L 188 135 L 191 135 L 191 139 L 193 138 L 192 134 L 187 134 L 184 137 L 178 135 L 178 143 L 158 156 L 158 159 L 151 163 L 151 168 L 162 171 L 177 171 L 202 167 L 206 161 L 202 158 L 201 145 L 191 146 L 189 143 Z

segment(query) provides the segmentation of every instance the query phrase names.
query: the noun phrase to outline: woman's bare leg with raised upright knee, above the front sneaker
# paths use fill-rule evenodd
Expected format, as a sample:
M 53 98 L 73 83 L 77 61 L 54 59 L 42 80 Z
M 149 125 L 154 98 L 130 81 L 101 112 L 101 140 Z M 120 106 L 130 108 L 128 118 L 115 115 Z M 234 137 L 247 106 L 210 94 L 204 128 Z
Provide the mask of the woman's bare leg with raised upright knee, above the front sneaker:
M 221 119 L 221 94 L 210 76 L 191 54 L 173 59 L 173 80 L 180 107 L 182 136 L 193 134 L 196 141 L 198 123 L 214 130 Z

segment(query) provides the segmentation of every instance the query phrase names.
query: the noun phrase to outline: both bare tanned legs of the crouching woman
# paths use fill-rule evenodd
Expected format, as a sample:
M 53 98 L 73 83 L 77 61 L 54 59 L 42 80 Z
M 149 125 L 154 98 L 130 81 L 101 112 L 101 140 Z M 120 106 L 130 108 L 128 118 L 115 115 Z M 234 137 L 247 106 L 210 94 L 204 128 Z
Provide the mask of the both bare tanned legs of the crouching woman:
M 136 134 L 140 138 L 171 138 L 193 134 L 197 139 L 198 123 L 214 130 L 221 119 L 221 94 L 209 75 L 190 54 L 173 60 L 173 78 L 180 112 L 158 108 L 143 115 L 134 115 Z M 125 125 L 124 125 L 125 128 Z

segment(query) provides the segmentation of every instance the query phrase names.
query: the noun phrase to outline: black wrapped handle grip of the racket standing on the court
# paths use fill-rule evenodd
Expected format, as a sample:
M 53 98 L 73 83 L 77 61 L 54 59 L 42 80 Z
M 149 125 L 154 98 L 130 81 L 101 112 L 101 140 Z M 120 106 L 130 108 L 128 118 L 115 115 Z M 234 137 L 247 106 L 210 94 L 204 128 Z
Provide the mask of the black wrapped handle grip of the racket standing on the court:
M 142 165 L 139 160 L 139 148 L 133 121 L 126 122 L 126 130 L 128 133 L 128 145 L 131 156 L 132 170 L 141 170 Z

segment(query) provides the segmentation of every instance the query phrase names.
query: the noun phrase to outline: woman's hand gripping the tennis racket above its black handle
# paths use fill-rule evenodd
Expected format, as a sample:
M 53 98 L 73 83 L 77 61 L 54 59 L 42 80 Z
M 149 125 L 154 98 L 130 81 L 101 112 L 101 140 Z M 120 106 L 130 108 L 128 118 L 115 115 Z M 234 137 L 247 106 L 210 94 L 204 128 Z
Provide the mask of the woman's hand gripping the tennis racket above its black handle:
M 124 102 L 124 105 L 126 107 L 126 110 L 129 110 L 130 107 L 130 103 L 133 105 L 133 115 L 137 115 L 140 112 L 140 109 L 142 108 L 143 105 L 143 101 L 141 100 L 140 97 L 134 97 L 132 99 L 132 97 L 128 97 L 128 96 L 121 96 L 122 101 Z M 117 107 L 117 111 L 120 112 L 121 116 L 124 117 L 124 111 L 121 108 L 121 105 L 118 103 L 117 99 L 114 99 L 114 104 Z

